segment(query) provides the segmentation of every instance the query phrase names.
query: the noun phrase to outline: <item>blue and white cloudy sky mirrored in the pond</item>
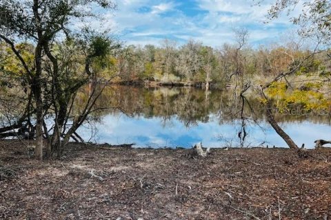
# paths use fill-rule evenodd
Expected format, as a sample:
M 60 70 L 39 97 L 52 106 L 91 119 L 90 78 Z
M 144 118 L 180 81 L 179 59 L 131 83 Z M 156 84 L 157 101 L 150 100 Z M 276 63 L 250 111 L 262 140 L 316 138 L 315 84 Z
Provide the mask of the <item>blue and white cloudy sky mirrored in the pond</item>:
M 176 116 L 164 123 L 162 117 L 145 118 L 135 116 L 133 118 L 123 114 L 108 114 L 103 116 L 94 142 L 109 144 L 135 143 L 138 147 L 185 147 L 188 148 L 197 142 L 203 146 L 223 147 L 231 145 L 239 146 L 237 136 L 240 122 L 227 122 L 219 124 L 216 115 L 210 115 L 208 122 L 198 122 L 194 126 L 186 127 Z M 261 127 L 260 127 L 261 126 Z M 245 146 L 269 146 L 286 147 L 285 142 L 274 132 L 266 122 L 260 126 L 250 124 Z M 307 148 L 314 147 L 314 140 L 330 139 L 331 127 L 328 124 L 312 122 L 283 122 L 283 129 L 293 138 L 299 146 L 305 144 Z M 261 129 L 262 128 L 262 129 Z M 314 132 L 312 132 L 314 131 Z M 88 129 L 80 129 L 82 137 L 86 140 L 90 137 Z

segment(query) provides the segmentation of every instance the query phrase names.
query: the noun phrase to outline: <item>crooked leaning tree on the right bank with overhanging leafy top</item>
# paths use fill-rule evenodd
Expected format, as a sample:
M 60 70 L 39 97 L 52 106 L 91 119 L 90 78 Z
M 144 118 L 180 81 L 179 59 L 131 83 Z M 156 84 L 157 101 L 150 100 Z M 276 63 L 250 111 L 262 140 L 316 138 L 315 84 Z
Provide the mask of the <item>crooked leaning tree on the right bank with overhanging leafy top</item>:
M 293 74 L 296 74 L 301 67 L 305 65 L 307 61 L 310 60 L 314 54 L 318 52 L 318 45 L 320 43 L 328 43 L 330 40 L 330 30 L 331 30 L 331 3 L 328 0 L 314 0 L 314 1 L 299 1 L 299 0 L 276 0 L 268 12 L 269 19 L 277 19 L 281 12 L 288 10 L 288 14 L 299 3 L 303 4 L 303 11 L 299 14 L 299 17 L 292 17 L 291 21 L 294 24 L 300 25 L 300 34 L 304 37 L 313 36 L 318 39 L 317 47 L 315 50 L 310 52 L 308 56 L 304 56 L 299 60 L 295 60 L 292 57 L 292 62 L 288 65 L 288 69 L 281 71 L 277 74 L 274 79 L 264 85 L 259 86 L 259 92 L 261 97 L 265 102 L 265 111 L 268 122 L 272 125 L 274 130 L 285 140 L 290 148 L 298 148 L 297 144 L 291 139 L 291 137 L 281 129 L 276 120 L 274 120 L 274 115 L 272 114 L 272 104 L 270 103 L 270 98 L 265 95 L 265 90 L 269 89 L 274 85 L 274 83 L 279 82 L 284 79 L 288 85 L 287 78 Z M 284 54 L 288 55 L 286 52 Z M 290 85 L 292 87 L 292 85 Z

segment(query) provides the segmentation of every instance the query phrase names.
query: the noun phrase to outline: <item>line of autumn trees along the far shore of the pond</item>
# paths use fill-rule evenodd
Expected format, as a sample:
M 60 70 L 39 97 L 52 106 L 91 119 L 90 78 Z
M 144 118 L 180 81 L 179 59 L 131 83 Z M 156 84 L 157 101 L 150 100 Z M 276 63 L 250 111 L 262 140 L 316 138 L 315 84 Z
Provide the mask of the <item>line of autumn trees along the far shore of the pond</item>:
M 214 83 L 221 87 L 233 85 L 232 76 L 239 72 L 245 77 L 277 76 L 312 52 L 295 42 L 258 49 L 248 43 L 213 48 L 194 40 L 176 45 L 176 42 L 165 39 L 162 46 L 123 46 L 115 57 L 121 73 L 119 80 Z M 310 63 L 299 72 L 328 74 L 329 68 L 328 53 L 324 52 L 310 58 Z

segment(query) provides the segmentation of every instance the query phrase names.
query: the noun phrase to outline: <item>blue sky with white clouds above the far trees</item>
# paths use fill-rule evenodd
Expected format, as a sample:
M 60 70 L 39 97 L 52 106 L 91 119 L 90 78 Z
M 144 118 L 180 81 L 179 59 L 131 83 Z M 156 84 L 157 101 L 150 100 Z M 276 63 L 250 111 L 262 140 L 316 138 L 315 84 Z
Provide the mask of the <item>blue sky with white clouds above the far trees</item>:
M 117 10 L 104 14 L 104 25 L 127 45 L 160 45 L 163 39 L 179 45 L 192 39 L 219 47 L 234 43 L 236 28 L 249 32 L 253 46 L 283 41 L 294 28 L 286 14 L 265 24 L 272 0 L 261 5 L 248 0 L 117 0 Z M 297 6 L 292 16 L 299 14 Z

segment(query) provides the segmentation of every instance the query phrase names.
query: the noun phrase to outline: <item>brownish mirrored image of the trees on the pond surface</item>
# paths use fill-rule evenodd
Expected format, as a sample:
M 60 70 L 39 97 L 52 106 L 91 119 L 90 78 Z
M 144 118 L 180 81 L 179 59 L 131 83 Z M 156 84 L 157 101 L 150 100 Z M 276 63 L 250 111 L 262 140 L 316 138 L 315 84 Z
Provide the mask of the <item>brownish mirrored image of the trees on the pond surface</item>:
M 243 109 L 250 123 L 265 121 L 264 109 L 259 98 L 246 95 L 249 104 Z M 79 102 L 77 102 L 79 105 Z M 254 107 L 254 112 L 250 108 Z M 219 124 L 241 119 L 241 99 L 231 91 L 196 89 L 192 87 L 133 87 L 110 85 L 106 87 L 96 108 L 103 109 L 97 115 L 125 113 L 132 117 L 163 118 L 166 124 L 172 116 L 177 117 L 185 126 L 209 122 L 216 115 Z M 329 123 L 330 115 L 285 114 L 274 109 L 279 122 Z

